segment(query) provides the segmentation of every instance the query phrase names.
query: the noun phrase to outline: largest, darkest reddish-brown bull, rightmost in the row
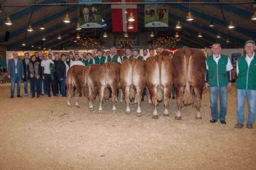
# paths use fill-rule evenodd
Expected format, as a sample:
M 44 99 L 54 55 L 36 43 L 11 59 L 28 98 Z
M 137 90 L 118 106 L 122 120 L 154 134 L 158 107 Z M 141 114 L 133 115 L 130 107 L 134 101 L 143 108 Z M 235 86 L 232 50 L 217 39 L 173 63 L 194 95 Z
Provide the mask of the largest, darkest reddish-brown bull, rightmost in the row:
M 190 105 L 194 100 L 197 107 L 196 118 L 202 118 L 200 107 L 205 75 L 204 53 L 197 48 L 182 48 L 175 52 L 172 62 L 178 106 L 175 119 L 181 119 L 182 102 L 184 105 Z

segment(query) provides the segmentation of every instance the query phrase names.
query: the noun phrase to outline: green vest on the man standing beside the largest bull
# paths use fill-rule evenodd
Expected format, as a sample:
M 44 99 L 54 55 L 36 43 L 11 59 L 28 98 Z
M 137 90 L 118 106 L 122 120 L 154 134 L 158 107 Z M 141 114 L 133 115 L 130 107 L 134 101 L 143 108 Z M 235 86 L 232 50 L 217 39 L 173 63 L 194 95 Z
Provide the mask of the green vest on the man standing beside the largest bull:
M 228 77 L 226 65 L 228 62 L 228 56 L 221 54 L 221 58 L 218 61 L 218 65 L 214 61 L 213 55 L 207 57 L 206 62 L 208 65 L 209 85 L 211 87 L 227 86 Z

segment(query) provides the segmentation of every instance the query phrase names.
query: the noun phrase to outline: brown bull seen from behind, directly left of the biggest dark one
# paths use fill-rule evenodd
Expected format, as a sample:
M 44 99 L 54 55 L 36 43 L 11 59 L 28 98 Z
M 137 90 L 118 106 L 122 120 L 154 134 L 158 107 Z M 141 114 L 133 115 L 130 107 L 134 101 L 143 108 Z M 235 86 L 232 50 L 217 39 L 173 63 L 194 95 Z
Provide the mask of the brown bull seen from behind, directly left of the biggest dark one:
M 172 60 L 169 56 L 158 54 L 145 62 L 146 85 L 153 102 L 153 116 L 158 118 L 158 101 L 164 100 L 164 116 L 169 116 L 167 107 L 172 91 Z

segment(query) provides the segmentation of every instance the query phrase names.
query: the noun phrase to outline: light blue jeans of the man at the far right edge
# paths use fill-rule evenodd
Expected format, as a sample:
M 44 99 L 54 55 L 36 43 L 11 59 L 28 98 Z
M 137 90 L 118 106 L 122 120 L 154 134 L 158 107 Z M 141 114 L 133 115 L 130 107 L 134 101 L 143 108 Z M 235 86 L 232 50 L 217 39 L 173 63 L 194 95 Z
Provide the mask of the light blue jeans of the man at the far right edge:
M 253 125 L 256 112 L 256 90 L 238 89 L 238 123 L 244 123 L 244 103 L 247 95 L 248 99 L 248 120 L 247 125 Z

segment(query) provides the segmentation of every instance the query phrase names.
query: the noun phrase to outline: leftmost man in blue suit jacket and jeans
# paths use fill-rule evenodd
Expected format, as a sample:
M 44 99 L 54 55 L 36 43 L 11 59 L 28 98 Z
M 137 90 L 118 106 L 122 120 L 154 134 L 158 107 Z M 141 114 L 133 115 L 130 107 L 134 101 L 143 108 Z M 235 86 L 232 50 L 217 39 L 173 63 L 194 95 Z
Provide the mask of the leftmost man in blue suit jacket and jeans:
M 13 52 L 13 59 L 8 61 L 8 78 L 11 79 L 11 98 L 14 96 L 15 82 L 17 83 L 17 98 L 22 98 L 20 95 L 21 78 L 24 79 L 24 68 L 22 60 L 18 59 L 18 53 Z

